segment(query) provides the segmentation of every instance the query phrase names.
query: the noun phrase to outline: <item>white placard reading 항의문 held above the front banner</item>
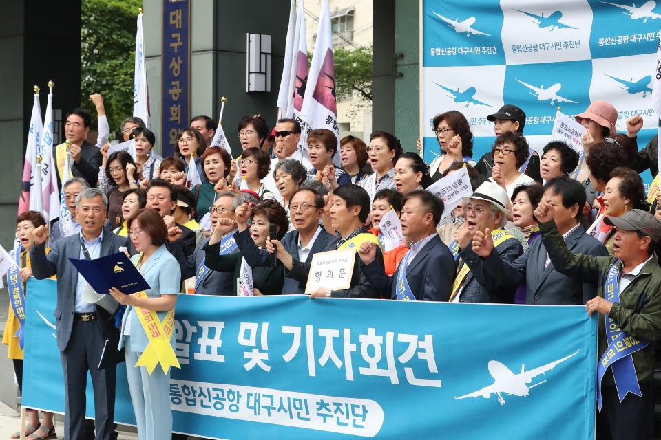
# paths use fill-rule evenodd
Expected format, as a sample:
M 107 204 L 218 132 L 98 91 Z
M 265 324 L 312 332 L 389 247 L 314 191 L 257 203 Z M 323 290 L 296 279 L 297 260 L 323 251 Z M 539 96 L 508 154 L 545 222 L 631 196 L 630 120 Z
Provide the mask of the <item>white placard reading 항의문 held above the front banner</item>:
M 329 250 L 312 256 L 305 293 L 311 294 L 319 287 L 329 290 L 348 289 L 351 286 L 356 248 Z

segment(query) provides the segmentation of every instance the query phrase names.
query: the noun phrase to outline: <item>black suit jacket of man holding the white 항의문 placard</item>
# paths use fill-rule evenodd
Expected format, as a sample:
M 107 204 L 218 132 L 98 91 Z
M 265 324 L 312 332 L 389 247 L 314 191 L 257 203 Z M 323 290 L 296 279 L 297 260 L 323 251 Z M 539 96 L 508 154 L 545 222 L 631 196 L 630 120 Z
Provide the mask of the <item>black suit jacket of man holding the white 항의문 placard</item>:
M 369 232 L 364 227 L 361 228 L 360 233 L 369 234 Z M 342 237 L 337 236 L 334 240 L 328 241 L 326 248 L 324 248 L 322 252 L 326 252 L 327 250 L 335 250 L 337 243 L 339 243 L 341 240 Z M 358 249 L 356 249 L 356 252 L 358 252 Z M 381 252 L 381 248 L 377 248 L 377 256 L 370 264 L 375 264 L 381 267 L 381 270 L 384 270 L 385 272 L 384 253 Z M 356 259 L 353 263 L 350 287 L 344 290 L 333 290 L 333 292 L 331 292 L 333 298 L 381 298 L 381 295 L 370 283 L 366 274 L 361 271 L 364 266 L 365 263 L 363 263 L 359 256 L 356 256 Z M 298 280 L 301 285 L 306 285 L 308 283 L 308 274 L 310 274 L 310 263 L 301 263 L 299 261 L 297 265 L 294 265 L 291 268 L 288 276 Z

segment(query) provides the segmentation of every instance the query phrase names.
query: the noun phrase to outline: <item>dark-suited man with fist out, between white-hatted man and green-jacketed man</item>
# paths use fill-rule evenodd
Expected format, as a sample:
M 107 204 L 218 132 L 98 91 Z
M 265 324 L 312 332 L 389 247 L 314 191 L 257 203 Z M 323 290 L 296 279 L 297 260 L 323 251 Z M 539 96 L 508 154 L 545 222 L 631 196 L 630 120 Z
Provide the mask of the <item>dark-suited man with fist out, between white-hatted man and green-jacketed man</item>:
M 569 177 L 555 177 L 544 186 L 543 201 L 555 208 L 558 232 L 574 254 L 606 256 L 605 246 L 580 225 L 585 205 L 585 188 Z M 585 304 L 597 294 L 597 286 L 560 274 L 548 258 L 542 240 L 535 240 L 518 259 L 503 261 L 491 245 L 484 245 L 484 235 L 476 234 L 473 251 L 483 259 L 482 275 L 494 283 L 517 286 L 526 283 L 526 304 Z

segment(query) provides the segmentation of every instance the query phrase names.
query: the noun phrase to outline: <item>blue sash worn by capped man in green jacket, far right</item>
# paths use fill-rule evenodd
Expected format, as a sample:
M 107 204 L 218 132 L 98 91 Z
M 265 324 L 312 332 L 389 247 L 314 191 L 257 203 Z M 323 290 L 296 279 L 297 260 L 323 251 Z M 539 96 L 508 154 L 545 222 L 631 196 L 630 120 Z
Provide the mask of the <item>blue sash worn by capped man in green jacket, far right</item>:
M 620 287 L 618 287 L 618 276 L 620 270 L 616 265 L 611 265 L 606 278 L 606 289 L 604 298 L 611 303 L 620 303 Z M 616 388 L 620 402 L 627 393 L 631 392 L 642 397 L 636 369 L 633 366 L 631 355 L 636 351 L 647 347 L 648 342 L 640 342 L 620 330 L 617 323 L 610 316 L 606 316 L 606 336 L 609 344 L 605 353 L 601 356 L 597 367 L 597 403 L 601 412 L 601 380 L 610 366 L 613 370 Z

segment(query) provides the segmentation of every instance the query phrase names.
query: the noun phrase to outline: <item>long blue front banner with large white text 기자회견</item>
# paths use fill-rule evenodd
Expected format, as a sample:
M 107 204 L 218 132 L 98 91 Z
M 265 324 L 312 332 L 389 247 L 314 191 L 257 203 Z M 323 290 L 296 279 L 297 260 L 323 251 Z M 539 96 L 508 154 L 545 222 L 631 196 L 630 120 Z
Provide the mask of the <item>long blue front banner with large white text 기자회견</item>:
M 56 282 L 31 278 L 28 292 L 23 404 L 62 412 Z M 596 319 L 583 306 L 180 295 L 176 310 L 176 432 L 594 438 Z M 134 424 L 125 368 L 116 421 Z M 88 417 L 93 404 L 88 381 Z

